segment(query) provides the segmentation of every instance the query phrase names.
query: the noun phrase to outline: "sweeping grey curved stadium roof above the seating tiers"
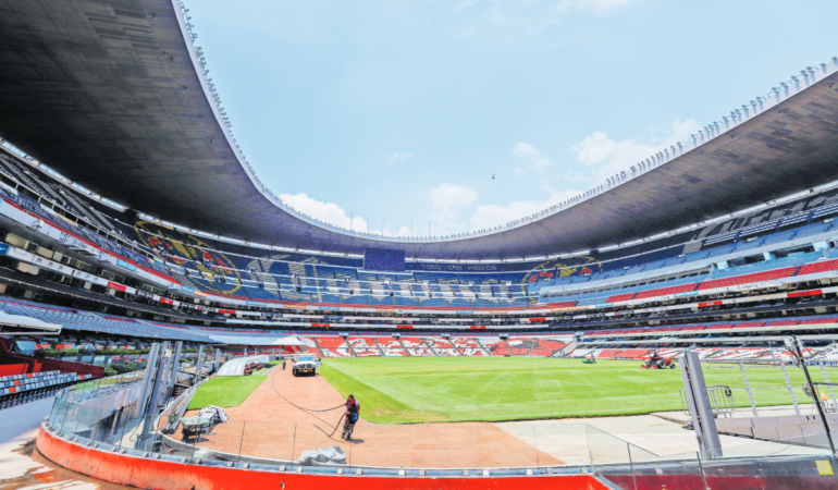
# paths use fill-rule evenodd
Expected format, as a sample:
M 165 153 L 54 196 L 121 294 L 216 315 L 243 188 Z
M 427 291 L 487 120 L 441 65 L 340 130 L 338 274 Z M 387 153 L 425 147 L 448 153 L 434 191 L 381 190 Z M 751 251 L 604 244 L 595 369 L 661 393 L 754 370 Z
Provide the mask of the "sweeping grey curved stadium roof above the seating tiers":
M 103 197 L 244 241 L 539 257 L 646 237 L 838 179 L 833 61 L 776 91 L 776 105 L 766 97 L 765 110 L 737 110 L 735 127 L 558 212 L 476 237 L 375 238 L 285 208 L 242 163 L 176 0 L 27 0 L 0 13 L 0 136 Z

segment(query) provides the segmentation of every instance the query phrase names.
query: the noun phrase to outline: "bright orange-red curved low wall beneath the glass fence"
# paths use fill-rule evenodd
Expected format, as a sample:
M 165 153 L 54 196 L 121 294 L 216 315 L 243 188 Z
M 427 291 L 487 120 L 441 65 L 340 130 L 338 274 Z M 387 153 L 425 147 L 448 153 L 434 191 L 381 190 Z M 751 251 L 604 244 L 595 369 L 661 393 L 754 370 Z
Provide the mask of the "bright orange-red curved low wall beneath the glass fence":
M 341 490 L 607 490 L 589 475 L 540 477 L 411 478 L 378 476 L 323 476 L 305 473 L 271 473 L 254 469 L 185 465 L 133 457 L 83 448 L 38 431 L 38 451 L 53 463 L 73 471 L 119 485 L 146 489 L 237 490 L 269 488 L 340 488 Z

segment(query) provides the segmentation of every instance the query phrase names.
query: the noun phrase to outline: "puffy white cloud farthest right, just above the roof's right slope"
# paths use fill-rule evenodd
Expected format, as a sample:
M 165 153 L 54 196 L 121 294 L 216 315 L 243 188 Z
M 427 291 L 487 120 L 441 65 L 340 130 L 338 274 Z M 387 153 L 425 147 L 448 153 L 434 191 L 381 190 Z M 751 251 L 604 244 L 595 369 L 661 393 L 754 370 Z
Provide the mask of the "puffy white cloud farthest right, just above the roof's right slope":
M 701 125 L 693 119 L 675 120 L 665 128 L 668 136 L 651 137 L 646 142 L 637 139 L 615 142 L 606 133 L 597 131 L 574 145 L 572 150 L 576 152 L 577 161 L 593 167 L 593 176 L 596 180 L 603 180 L 628 170 L 634 163 L 645 160 L 676 142 L 687 139 L 690 134 L 700 128 Z

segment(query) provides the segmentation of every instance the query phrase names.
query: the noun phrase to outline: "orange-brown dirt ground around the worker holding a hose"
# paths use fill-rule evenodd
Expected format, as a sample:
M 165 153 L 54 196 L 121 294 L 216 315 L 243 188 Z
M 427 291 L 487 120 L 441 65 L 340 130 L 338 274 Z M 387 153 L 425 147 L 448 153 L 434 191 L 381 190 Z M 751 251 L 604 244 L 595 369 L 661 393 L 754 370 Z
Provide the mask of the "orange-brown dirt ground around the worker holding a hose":
M 241 406 L 226 409 L 227 422 L 217 425 L 197 445 L 292 461 L 304 451 L 340 445 L 347 463 L 361 466 L 497 468 L 563 464 L 488 422 L 381 426 L 361 418 L 353 442 L 346 442 L 341 440 L 343 425 L 330 437 L 344 413 L 342 408 L 309 413 L 289 402 L 323 409 L 342 405 L 344 399 L 320 376 L 294 378 L 291 369 L 274 369 Z M 362 414 L 363 400 L 360 403 Z M 180 440 L 180 429 L 172 437 Z

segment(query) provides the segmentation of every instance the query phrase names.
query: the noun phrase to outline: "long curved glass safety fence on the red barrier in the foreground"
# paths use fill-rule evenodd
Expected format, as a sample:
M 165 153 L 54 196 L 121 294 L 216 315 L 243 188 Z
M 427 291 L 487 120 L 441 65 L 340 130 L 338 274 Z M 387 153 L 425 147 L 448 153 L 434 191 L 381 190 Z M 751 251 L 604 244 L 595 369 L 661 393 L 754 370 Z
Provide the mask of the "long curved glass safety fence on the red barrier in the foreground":
M 143 383 L 137 381 L 143 379 L 130 373 L 67 387 L 45 427 L 88 449 L 239 469 L 428 477 L 589 474 L 625 490 L 761 488 L 753 482 L 772 488 L 778 478 L 793 488 L 838 488 L 838 465 L 828 449 L 796 440 L 740 439 L 701 458 L 698 452 L 671 454 L 678 441 L 694 441 L 677 427 L 633 434 L 629 442 L 587 424 L 537 421 L 358 425 L 349 442 L 340 438 L 340 411 L 320 414 L 322 420 L 311 424 L 222 422 L 186 412 L 189 396 L 184 395 L 162 415 L 139 416 L 136 387 Z M 650 437 L 660 454 L 638 445 Z

